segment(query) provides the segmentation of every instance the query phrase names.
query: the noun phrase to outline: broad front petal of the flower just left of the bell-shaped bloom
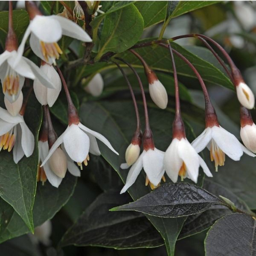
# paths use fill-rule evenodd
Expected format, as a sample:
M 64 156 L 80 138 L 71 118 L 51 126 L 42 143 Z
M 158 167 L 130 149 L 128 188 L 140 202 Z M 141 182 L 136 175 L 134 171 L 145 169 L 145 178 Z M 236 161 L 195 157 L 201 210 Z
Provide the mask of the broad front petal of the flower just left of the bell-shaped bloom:
M 164 174 L 163 157 L 164 152 L 157 148 L 149 149 L 143 156 L 143 169 L 154 186 L 160 183 Z

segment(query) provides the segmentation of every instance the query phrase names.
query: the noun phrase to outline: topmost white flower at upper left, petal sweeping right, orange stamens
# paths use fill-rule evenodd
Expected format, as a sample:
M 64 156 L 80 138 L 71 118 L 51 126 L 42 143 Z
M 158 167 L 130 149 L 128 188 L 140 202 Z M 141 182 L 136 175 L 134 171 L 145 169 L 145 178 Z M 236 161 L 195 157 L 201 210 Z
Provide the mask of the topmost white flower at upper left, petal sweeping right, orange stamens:
M 56 64 L 55 59 L 58 59 L 59 55 L 62 54 L 57 43 L 62 35 L 67 35 L 84 42 L 92 41 L 90 36 L 79 25 L 59 15 L 35 15 L 30 20 L 23 36 L 18 49 L 19 55 L 23 54 L 29 35 L 29 44 L 32 51 L 48 64 Z

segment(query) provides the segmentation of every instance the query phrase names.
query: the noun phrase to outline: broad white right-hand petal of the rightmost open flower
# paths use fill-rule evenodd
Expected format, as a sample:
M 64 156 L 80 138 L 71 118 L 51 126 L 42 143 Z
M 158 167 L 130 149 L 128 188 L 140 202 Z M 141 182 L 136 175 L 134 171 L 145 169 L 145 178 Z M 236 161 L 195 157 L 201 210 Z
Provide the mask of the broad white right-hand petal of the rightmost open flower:
M 212 139 L 215 140 L 219 148 L 231 159 L 238 161 L 243 154 L 241 143 L 230 132 L 221 126 L 212 127 Z

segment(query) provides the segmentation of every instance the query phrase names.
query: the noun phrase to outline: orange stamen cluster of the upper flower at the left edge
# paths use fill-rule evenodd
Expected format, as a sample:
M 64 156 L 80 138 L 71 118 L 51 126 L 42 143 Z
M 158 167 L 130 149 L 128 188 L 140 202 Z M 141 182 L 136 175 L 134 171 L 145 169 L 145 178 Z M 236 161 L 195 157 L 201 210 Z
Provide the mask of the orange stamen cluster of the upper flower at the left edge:
M 10 96 L 15 96 L 20 85 L 19 75 L 9 65 L 7 67 L 6 76 L 3 80 L 3 93 L 8 93 Z

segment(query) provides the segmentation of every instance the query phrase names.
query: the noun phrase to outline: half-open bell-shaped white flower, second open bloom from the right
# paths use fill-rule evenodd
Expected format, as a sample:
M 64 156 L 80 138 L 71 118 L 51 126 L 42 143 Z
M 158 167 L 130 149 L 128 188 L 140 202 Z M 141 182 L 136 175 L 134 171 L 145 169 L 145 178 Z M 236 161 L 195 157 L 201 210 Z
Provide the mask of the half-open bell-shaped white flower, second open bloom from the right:
M 199 166 L 208 177 L 212 177 L 206 163 L 200 157 L 186 138 L 174 138 L 164 154 L 164 168 L 173 182 L 189 177 L 195 183 L 198 180 Z

